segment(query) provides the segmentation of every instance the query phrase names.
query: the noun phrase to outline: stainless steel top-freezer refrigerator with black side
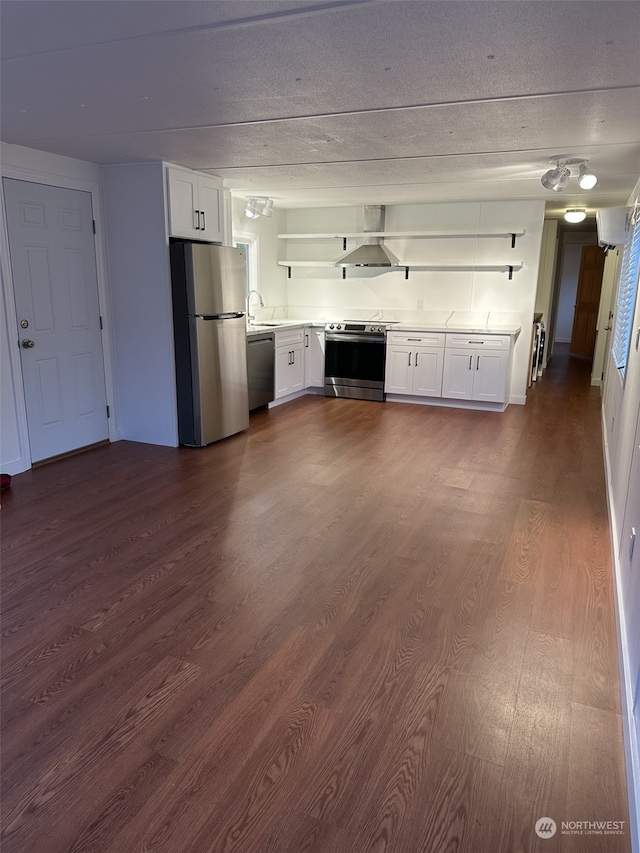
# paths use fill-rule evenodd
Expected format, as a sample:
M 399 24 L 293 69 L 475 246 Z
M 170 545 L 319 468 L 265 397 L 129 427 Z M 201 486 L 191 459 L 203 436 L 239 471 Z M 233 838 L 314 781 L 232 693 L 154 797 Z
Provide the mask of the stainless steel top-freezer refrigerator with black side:
M 180 444 L 202 447 L 249 426 L 244 256 L 171 244 Z

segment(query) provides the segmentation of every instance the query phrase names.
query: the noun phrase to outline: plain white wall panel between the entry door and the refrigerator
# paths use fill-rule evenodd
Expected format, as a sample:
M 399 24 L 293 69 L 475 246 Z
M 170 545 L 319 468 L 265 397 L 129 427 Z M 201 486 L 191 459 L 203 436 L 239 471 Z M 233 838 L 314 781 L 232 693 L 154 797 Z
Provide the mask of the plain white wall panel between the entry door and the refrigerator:
M 177 447 L 164 165 L 105 166 L 103 183 L 120 433 Z

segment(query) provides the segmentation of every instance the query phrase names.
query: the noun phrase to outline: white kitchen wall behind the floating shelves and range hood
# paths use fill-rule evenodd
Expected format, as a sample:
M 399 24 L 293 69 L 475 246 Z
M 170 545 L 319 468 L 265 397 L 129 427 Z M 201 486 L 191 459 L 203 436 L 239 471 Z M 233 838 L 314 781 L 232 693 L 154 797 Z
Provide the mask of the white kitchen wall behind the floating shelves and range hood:
M 523 262 L 509 281 L 507 273 L 430 272 L 293 268 L 287 280 L 290 317 L 328 320 L 384 317 L 420 324 L 452 311 L 472 317 L 503 315 L 522 325 L 514 353 L 510 401 L 524 403 L 529 370 L 530 329 L 538 282 L 544 202 L 469 202 L 389 205 L 386 231 L 456 231 L 524 229 L 516 247 L 504 238 L 387 239 L 389 249 L 407 264 L 442 261 L 459 264 Z M 309 208 L 286 213 L 287 233 L 358 232 L 362 207 Z M 281 240 L 280 257 L 289 260 L 335 260 L 342 254 L 340 239 Z M 350 240 L 348 248 L 356 245 Z

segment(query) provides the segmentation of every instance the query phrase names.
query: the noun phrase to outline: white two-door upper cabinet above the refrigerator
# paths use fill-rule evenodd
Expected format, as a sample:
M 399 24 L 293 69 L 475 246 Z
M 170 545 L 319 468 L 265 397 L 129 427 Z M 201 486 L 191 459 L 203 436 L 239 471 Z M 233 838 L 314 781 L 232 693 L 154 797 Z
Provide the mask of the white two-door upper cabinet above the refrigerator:
M 190 169 L 167 167 L 169 236 L 223 242 L 222 180 Z

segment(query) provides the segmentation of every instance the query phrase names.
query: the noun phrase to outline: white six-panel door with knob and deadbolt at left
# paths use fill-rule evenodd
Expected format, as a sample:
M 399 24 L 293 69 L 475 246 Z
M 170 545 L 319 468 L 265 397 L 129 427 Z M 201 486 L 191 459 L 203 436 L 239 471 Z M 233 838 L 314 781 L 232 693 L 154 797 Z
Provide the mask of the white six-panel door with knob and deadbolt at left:
M 91 194 L 4 179 L 31 459 L 108 438 Z

